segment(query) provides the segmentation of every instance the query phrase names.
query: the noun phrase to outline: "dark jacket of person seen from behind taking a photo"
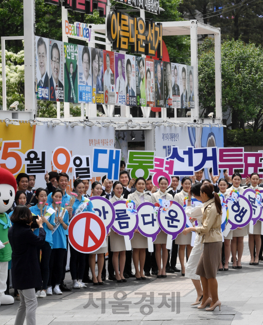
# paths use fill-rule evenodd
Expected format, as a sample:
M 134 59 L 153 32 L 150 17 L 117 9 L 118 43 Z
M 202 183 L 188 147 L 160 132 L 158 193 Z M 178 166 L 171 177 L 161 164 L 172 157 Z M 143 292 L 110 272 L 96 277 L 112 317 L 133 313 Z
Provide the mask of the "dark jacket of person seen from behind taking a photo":
M 46 233 L 39 228 L 35 235 L 28 225 L 14 223 L 8 230 L 12 248 L 12 285 L 24 290 L 42 286 L 41 271 L 38 263 L 37 246 L 45 244 Z

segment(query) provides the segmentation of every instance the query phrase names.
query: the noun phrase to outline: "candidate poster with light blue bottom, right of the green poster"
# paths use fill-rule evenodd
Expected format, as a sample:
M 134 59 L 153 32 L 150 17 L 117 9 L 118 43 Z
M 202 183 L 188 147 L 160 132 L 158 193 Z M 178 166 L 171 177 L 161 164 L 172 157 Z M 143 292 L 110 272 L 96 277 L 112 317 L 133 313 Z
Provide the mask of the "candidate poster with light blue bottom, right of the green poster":
M 88 46 L 77 46 L 78 52 L 78 102 L 92 101 L 92 69 L 91 49 Z

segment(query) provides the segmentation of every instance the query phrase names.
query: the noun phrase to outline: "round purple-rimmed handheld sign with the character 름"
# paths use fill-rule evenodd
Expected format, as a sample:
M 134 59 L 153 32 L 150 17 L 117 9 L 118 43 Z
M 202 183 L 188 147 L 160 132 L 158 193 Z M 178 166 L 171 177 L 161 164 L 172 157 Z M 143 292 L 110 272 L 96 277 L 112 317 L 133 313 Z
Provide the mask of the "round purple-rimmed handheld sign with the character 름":
M 131 250 L 131 239 L 138 228 L 138 214 L 133 200 L 113 202 L 115 220 L 112 229 L 124 236 L 126 250 Z

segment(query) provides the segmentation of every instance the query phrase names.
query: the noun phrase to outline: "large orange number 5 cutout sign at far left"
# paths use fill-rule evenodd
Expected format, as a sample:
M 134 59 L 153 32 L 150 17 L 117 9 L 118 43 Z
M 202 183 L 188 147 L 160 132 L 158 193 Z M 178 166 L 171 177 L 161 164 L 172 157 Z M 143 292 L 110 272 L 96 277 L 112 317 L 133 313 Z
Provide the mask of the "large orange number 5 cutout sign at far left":
M 0 166 L 16 175 L 23 167 L 24 155 L 13 149 L 21 149 L 21 140 L 3 141 L 0 151 Z

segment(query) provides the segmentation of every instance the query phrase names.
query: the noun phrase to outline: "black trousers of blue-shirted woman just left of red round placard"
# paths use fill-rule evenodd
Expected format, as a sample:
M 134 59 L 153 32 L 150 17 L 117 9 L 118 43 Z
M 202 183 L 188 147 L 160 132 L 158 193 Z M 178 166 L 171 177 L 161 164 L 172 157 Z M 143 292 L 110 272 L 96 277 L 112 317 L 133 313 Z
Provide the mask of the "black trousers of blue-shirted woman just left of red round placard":
M 63 276 L 63 261 L 66 249 L 52 249 L 49 260 L 48 287 L 60 285 Z

